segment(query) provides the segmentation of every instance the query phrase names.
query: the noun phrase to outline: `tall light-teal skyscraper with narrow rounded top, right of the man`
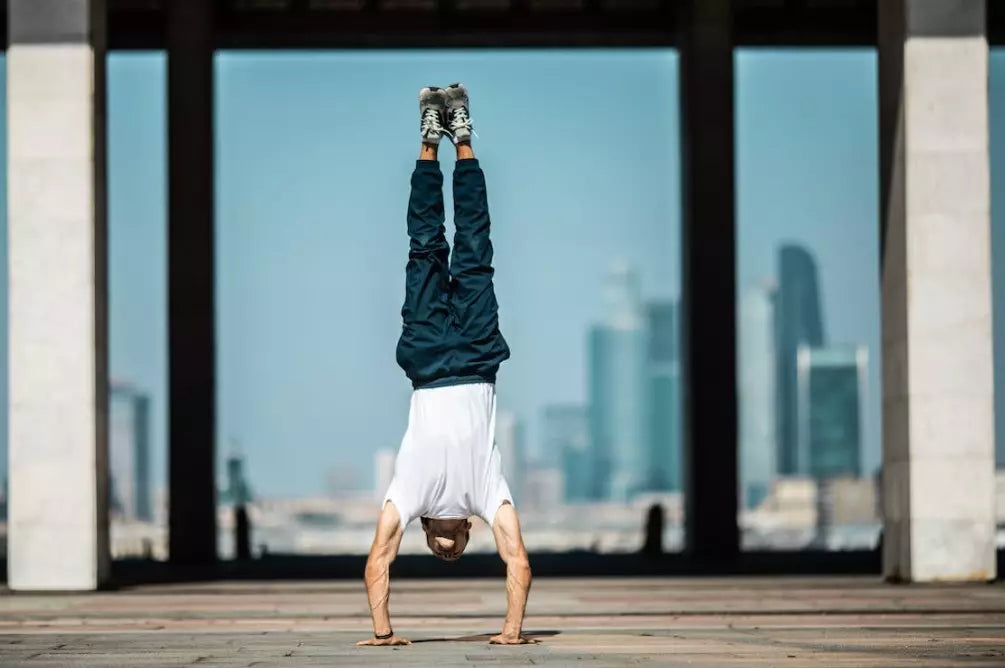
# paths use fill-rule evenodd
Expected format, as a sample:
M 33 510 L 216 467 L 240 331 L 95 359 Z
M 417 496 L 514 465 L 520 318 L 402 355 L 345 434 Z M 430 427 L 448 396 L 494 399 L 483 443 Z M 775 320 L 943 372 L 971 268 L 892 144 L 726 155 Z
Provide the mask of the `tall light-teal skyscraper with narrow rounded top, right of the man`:
M 591 498 L 627 500 L 649 464 L 645 316 L 638 277 L 617 262 L 604 284 L 606 315 L 590 335 Z

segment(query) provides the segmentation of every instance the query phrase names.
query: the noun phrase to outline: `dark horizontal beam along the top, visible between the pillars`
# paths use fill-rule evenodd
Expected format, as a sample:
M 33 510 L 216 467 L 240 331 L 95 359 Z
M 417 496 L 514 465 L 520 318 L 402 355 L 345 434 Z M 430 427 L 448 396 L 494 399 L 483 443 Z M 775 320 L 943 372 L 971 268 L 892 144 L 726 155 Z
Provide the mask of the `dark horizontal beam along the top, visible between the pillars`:
M 669 0 L 548 0 L 554 10 L 534 9 L 542 0 L 497 0 L 498 10 L 470 9 L 496 0 L 397 0 L 432 11 L 395 8 L 391 0 L 345 0 L 357 10 L 312 8 L 290 0 L 288 9 L 267 11 L 218 7 L 216 48 L 296 49 L 352 47 L 552 47 L 673 46 L 676 3 Z M 538 2 L 538 5 L 533 4 Z M 6 47 L 6 3 L 0 0 L 0 46 Z M 112 4 L 109 48 L 163 49 L 163 2 Z M 575 10 L 562 10 L 574 7 Z M 618 8 L 620 7 L 620 8 Z M 648 8 L 646 8 L 648 7 Z M 1005 2 L 988 0 L 988 41 L 1005 45 Z M 737 3 L 738 46 L 875 46 L 875 0 L 846 5 L 805 2 Z

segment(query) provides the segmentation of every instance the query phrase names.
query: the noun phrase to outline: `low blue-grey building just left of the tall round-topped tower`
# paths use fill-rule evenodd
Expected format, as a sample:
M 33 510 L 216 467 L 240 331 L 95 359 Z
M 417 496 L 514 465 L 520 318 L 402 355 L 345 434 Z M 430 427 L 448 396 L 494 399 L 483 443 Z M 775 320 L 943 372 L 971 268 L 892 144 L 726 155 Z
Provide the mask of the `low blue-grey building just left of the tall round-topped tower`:
M 562 462 L 565 500 L 592 498 L 589 411 L 585 406 L 546 406 L 542 417 L 545 450 L 558 453 Z

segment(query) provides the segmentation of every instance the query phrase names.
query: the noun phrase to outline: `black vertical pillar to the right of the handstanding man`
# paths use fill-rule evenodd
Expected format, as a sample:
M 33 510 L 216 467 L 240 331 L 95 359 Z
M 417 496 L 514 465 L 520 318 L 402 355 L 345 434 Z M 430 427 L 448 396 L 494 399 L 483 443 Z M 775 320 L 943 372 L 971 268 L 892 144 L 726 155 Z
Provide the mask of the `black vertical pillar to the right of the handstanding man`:
M 729 562 L 740 542 L 732 2 L 679 6 L 685 543 Z

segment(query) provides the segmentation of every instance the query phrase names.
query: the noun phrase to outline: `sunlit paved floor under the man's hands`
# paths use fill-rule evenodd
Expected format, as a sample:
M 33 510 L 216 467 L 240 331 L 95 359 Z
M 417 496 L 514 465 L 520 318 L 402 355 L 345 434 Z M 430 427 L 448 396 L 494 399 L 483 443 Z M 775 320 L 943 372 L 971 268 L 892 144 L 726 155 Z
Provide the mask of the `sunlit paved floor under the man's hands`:
M 358 648 L 357 583 L 217 583 L 0 597 L 14 666 L 1005 666 L 1005 586 L 875 579 L 539 579 L 527 631 L 496 647 L 502 582 L 394 583 L 414 645 Z

